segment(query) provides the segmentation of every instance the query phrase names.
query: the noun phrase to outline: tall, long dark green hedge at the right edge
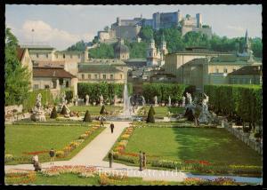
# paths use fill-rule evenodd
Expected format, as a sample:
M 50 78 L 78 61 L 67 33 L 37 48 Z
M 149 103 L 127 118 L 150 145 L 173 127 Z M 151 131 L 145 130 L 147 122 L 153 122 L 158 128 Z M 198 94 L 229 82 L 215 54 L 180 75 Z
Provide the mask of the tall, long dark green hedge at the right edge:
M 260 85 L 205 85 L 209 104 L 223 115 L 239 115 L 244 122 L 262 122 L 263 89 Z

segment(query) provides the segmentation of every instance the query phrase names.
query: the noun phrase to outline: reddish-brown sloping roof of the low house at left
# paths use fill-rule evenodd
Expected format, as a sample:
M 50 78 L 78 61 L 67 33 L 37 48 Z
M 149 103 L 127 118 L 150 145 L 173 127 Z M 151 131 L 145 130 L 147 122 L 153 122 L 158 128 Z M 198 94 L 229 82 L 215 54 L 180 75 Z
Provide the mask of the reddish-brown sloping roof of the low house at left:
M 76 78 L 61 67 L 33 67 L 33 77 Z

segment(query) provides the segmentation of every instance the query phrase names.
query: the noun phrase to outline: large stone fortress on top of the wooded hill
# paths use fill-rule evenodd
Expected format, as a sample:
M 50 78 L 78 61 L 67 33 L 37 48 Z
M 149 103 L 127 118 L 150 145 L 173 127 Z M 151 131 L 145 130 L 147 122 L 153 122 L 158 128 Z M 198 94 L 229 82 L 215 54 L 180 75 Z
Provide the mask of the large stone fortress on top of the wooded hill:
M 155 12 L 152 19 L 140 18 L 133 20 L 121 20 L 117 17 L 117 21 L 105 31 L 98 32 L 98 39 L 101 43 L 114 41 L 117 38 L 124 38 L 129 41 L 138 41 L 138 35 L 142 26 L 150 26 L 153 29 L 181 27 L 182 36 L 190 31 L 202 32 L 208 37 L 212 36 L 212 28 L 202 24 L 202 15 L 196 14 L 196 17 L 191 17 L 187 14 L 182 16 L 180 10 L 177 12 Z

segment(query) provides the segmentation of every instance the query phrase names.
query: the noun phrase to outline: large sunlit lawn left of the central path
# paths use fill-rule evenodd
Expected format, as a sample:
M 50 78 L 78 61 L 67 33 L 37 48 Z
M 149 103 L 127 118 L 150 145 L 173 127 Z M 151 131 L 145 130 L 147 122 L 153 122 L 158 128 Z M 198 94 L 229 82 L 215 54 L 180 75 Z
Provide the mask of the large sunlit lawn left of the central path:
M 31 154 L 36 151 L 49 151 L 52 147 L 55 150 L 62 150 L 64 146 L 75 139 L 78 139 L 81 134 L 91 126 L 44 126 L 44 125 L 6 125 L 5 126 L 5 154 L 12 154 L 17 159 L 8 164 L 19 162 L 29 162 Z M 103 128 L 102 128 L 103 129 Z M 83 146 L 88 144 L 101 130 L 95 131 L 92 137 L 88 137 L 85 141 L 78 146 L 71 154 L 61 160 L 69 159 L 77 154 Z M 49 161 L 49 154 L 38 154 L 40 162 Z M 60 160 L 56 158 L 56 160 Z

